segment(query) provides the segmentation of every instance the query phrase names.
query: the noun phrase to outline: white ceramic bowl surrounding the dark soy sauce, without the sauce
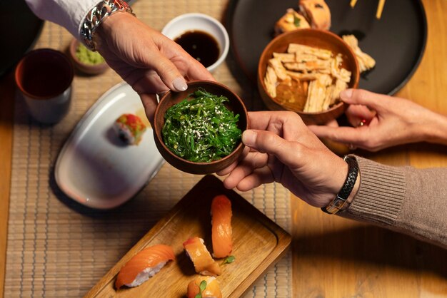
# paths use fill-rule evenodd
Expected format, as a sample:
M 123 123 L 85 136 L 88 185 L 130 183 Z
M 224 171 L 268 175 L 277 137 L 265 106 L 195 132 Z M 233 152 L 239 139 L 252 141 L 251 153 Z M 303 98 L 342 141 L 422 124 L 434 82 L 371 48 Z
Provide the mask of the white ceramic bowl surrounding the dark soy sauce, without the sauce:
M 174 40 L 188 31 L 204 31 L 216 39 L 219 45 L 219 58 L 206 68 L 210 72 L 214 71 L 225 61 L 230 48 L 230 38 L 224 25 L 206 14 L 182 14 L 169 21 L 161 33 Z

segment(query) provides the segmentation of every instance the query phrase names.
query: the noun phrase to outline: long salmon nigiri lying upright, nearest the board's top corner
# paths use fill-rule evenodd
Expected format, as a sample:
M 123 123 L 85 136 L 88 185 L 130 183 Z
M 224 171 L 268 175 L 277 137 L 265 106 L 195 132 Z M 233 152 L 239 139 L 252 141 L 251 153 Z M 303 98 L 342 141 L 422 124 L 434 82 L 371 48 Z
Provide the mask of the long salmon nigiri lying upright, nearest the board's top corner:
M 228 257 L 233 250 L 231 240 L 231 201 L 226 195 L 218 195 L 211 202 L 211 240 L 213 256 Z

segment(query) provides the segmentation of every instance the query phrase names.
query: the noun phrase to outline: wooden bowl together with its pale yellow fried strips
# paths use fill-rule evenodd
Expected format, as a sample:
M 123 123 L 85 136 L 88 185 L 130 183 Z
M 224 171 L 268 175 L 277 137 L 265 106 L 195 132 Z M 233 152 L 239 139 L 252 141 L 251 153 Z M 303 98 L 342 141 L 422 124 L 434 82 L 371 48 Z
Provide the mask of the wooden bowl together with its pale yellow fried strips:
M 273 111 L 294 111 L 306 124 L 324 124 L 344 113 L 340 92 L 357 88 L 356 56 L 330 31 L 298 29 L 264 48 L 258 63 L 258 91 Z

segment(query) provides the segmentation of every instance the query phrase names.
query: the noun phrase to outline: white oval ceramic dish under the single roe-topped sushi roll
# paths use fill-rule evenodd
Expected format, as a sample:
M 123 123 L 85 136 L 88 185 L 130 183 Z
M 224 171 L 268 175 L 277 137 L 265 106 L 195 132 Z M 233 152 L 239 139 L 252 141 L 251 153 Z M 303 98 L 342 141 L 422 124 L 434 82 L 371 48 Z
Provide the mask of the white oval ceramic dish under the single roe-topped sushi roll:
M 126 83 L 98 99 L 59 153 L 56 183 L 83 205 L 109 209 L 123 204 L 149 183 L 164 163 L 151 127 L 139 145 L 126 145 L 118 138 L 113 124 L 123 113 L 146 117 L 138 94 Z

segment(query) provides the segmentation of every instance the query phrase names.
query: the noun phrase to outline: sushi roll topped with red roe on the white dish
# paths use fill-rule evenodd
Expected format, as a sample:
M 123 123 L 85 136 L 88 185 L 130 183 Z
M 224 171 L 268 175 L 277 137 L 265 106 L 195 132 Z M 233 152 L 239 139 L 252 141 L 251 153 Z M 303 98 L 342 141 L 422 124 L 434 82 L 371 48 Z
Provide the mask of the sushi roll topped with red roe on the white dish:
M 125 143 L 138 145 L 146 131 L 146 125 L 137 115 L 123 114 L 115 120 L 114 130 Z

